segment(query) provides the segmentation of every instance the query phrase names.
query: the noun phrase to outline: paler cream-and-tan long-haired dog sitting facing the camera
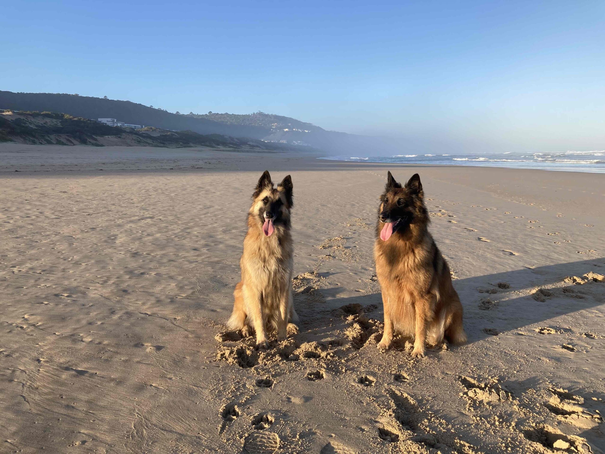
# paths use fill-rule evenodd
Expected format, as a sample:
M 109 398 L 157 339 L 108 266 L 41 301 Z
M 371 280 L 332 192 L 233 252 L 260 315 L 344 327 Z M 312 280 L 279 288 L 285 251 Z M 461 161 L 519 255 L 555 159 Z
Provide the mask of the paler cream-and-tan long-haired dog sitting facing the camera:
M 286 338 L 287 329 L 298 323 L 292 301 L 292 178 L 285 177 L 277 188 L 269 171 L 264 171 L 252 194 L 248 212 L 248 232 L 241 255 L 241 281 L 235 286 L 235 302 L 227 325 L 254 329 L 257 347 L 266 348 L 267 327 L 277 331 L 277 340 Z

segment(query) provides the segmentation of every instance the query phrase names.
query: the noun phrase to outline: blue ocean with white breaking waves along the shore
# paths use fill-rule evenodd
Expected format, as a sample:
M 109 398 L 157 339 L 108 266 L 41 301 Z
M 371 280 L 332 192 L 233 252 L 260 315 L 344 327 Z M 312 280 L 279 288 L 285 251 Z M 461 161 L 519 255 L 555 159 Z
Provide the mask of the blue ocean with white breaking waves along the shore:
M 572 172 L 605 173 L 605 151 L 561 151 L 560 153 L 474 153 L 474 154 L 396 154 L 394 156 L 347 157 L 333 159 L 358 162 L 393 162 L 402 164 L 472 165 L 542 169 Z

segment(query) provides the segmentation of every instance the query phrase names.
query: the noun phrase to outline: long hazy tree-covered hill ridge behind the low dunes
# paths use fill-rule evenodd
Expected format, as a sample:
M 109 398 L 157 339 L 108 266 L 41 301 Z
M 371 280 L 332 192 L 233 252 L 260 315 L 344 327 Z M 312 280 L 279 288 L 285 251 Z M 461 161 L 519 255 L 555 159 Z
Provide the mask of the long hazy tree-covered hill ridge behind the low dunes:
M 296 145 L 307 150 L 310 145 L 327 154 L 360 153 L 372 148 L 394 151 L 394 144 L 377 137 L 326 131 L 311 123 L 266 114 L 181 114 L 131 101 L 79 96 L 66 93 L 13 93 L 0 91 L 0 109 L 63 112 L 74 117 L 96 120 L 115 118 L 134 125 L 163 130 L 194 131 L 198 134 L 224 134 L 269 142 Z M 354 155 L 352 155 L 354 156 Z

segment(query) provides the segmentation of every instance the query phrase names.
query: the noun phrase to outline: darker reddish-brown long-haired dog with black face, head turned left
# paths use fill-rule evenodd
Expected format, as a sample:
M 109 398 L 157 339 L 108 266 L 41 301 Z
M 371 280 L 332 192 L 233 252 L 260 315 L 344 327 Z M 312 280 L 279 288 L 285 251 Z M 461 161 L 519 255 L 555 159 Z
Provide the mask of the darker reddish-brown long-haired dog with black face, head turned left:
M 379 349 L 388 349 L 393 334 L 414 337 L 414 358 L 425 344 L 443 337 L 466 342 L 462 304 L 450 268 L 428 232 L 427 207 L 418 174 L 402 187 L 391 173 L 380 198 L 374 260 L 382 288 L 384 334 Z

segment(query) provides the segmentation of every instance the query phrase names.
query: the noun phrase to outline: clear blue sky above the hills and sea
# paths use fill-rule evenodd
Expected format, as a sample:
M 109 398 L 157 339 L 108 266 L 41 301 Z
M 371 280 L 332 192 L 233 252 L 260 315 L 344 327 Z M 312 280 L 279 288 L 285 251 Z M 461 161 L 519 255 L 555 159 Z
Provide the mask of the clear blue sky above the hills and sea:
M 7 1 L 0 90 L 261 110 L 426 151 L 604 150 L 604 24 L 602 0 Z

